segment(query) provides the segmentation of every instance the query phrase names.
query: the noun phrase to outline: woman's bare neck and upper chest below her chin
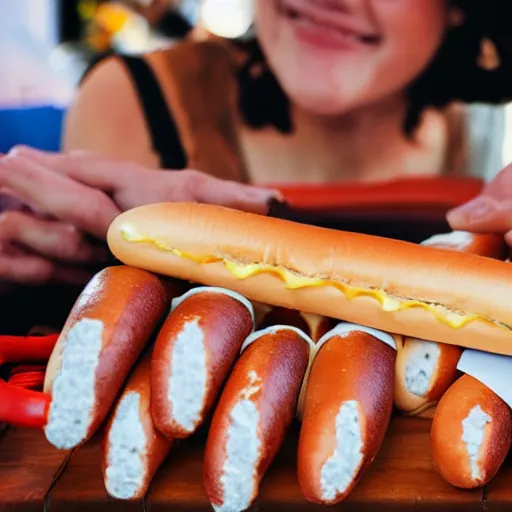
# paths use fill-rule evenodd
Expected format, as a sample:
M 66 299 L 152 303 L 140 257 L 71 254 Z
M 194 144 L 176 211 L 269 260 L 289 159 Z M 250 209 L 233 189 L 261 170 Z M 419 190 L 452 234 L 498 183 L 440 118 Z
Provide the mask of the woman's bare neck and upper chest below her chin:
M 293 132 L 242 130 L 242 147 L 253 183 L 376 182 L 437 175 L 445 164 L 445 116 L 425 111 L 407 138 L 407 102 L 394 97 L 337 118 L 293 107 Z

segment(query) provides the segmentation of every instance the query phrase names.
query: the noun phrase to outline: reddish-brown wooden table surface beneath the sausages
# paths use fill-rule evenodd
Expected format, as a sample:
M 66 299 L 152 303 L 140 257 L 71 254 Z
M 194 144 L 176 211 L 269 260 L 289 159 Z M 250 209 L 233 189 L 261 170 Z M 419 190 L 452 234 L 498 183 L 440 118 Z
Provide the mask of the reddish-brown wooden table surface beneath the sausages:
M 430 422 L 394 418 L 378 457 L 349 499 L 318 507 L 302 497 L 295 471 L 298 426 L 267 472 L 251 510 L 506 511 L 512 510 L 512 461 L 490 485 L 475 491 L 452 488 L 430 458 Z M 144 501 L 109 498 L 101 477 L 99 432 L 84 447 L 60 452 L 42 432 L 8 428 L 0 435 L 0 511 L 199 512 L 212 510 L 202 486 L 204 432 L 176 443 Z

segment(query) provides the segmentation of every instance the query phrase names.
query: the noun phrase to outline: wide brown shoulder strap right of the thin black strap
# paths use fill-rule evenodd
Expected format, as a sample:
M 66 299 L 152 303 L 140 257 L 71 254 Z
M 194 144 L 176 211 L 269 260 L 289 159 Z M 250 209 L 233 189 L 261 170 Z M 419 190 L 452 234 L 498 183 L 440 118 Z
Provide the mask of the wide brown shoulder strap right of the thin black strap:
M 213 176 L 247 181 L 237 133 L 235 67 L 216 41 L 183 41 L 148 55 L 187 155 L 187 166 Z

